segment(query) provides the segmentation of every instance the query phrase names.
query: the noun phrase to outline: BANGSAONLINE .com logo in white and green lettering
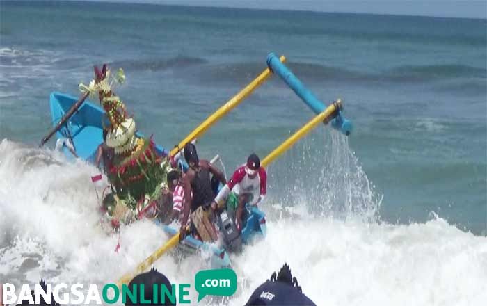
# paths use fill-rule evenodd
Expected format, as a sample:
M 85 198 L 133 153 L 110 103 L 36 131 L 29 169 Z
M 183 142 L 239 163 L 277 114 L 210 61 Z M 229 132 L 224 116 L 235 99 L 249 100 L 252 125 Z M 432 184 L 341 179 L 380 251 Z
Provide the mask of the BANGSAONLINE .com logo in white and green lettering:
M 237 291 L 237 275 L 232 269 L 204 270 L 195 275 L 195 290 L 198 292 L 198 302 L 207 295 L 232 296 Z M 14 284 L 1 284 L 0 305 L 17 305 L 28 302 L 31 305 L 40 304 L 43 300 L 47 304 L 60 305 L 102 305 L 131 301 L 134 304 L 166 303 L 189 304 L 189 289 L 191 284 L 152 284 L 152 295 L 145 296 L 145 284 L 123 284 L 119 288 L 116 284 L 105 284 L 100 291 L 97 284 L 22 284 L 20 289 Z M 18 290 L 17 290 L 18 289 Z

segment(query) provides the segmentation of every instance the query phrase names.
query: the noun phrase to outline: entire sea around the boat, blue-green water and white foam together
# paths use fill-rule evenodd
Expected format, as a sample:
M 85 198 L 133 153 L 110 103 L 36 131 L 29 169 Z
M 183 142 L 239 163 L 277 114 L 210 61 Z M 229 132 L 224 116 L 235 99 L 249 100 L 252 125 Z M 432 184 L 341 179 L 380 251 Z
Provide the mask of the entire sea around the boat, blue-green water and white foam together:
M 271 51 L 322 101 L 341 97 L 355 130 L 318 127 L 269 167 L 269 236 L 232 255 L 236 295 L 203 303 L 242 305 L 287 262 L 317 305 L 484 305 L 485 19 L 0 1 L 0 280 L 104 284 L 167 239 L 141 222 L 114 252 L 97 170 L 38 148 L 50 92 L 79 95 L 93 65 L 123 67 L 116 92 L 138 128 L 173 147 Z M 231 172 L 312 116 L 273 77 L 199 140 L 200 156 Z M 204 259 L 155 266 L 193 282 Z

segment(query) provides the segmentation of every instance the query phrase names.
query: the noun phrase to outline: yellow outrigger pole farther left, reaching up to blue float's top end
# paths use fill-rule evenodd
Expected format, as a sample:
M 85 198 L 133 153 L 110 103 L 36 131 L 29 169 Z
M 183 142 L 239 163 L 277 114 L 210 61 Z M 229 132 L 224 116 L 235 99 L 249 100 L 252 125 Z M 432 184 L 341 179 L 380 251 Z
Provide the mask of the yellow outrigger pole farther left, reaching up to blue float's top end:
M 284 63 L 286 61 L 285 56 L 280 56 L 279 61 Z M 256 77 L 252 82 L 250 82 L 244 89 L 242 89 L 237 95 L 228 100 L 227 103 L 223 104 L 217 111 L 211 114 L 205 121 L 203 121 L 196 129 L 194 129 L 186 138 L 184 138 L 179 145 L 170 150 L 169 156 L 175 156 L 177 152 L 184 148 L 186 143 L 189 143 L 195 138 L 199 138 L 209 127 L 211 127 L 215 122 L 220 120 L 229 111 L 232 111 L 237 105 L 239 105 L 250 93 L 252 93 L 257 87 L 259 87 L 266 79 L 271 76 L 271 70 L 266 68 L 258 77 Z

